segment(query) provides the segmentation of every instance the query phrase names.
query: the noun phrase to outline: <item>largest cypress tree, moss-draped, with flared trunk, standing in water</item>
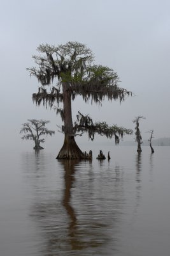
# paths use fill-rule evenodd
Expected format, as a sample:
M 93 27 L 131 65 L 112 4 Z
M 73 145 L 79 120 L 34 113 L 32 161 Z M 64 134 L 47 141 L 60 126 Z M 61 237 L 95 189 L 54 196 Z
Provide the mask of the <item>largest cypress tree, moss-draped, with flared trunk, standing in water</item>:
M 73 125 L 71 100 L 76 96 L 81 95 L 85 102 L 90 100 L 91 103 L 101 104 L 105 97 L 110 101 L 119 99 L 122 102 L 126 96 L 132 95 L 131 92 L 118 87 L 118 76 L 113 69 L 92 63 L 94 56 L 86 45 L 78 42 L 57 46 L 41 44 L 38 52 L 38 56 L 32 57 L 38 67 L 27 68 L 30 76 L 35 76 L 41 83 L 38 93 L 34 93 L 32 99 L 38 106 L 43 102 L 46 108 L 54 107 L 64 121 L 64 144 L 57 159 L 86 158 L 75 141 L 78 132 L 89 132 L 92 140 L 95 133 L 110 138 L 116 136 L 117 142 L 119 134 L 132 134 L 132 130 L 117 125 L 109 127 L 105 122 L 94 124 L 89 116 L 80 113 L 76 124 Z M 50 86 L 48 91 L 45 86 Z M 61 108 L 60 102 L 63 104 Z

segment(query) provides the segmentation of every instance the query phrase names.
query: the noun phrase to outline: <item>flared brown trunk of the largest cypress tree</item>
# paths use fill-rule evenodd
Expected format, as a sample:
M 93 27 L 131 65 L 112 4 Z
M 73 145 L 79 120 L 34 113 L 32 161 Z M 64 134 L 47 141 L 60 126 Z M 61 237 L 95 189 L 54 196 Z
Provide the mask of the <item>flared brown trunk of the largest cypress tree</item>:
M 60 149 L 57 159 L 84 159 L 85 155 L 74 140 L 73 121 L 71 113 L 71 92 L 69 83 L 62 83 L 63 108 L 64 108 L 64 144 Z

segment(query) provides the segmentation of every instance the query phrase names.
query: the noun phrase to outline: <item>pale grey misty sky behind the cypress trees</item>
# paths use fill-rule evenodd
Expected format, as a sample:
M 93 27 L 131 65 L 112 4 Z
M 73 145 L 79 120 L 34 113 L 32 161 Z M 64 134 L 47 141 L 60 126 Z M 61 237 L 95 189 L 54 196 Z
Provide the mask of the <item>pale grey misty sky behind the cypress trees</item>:
M 34 66 L 32 54 L 39 44 L 68 41 L 86 44 L 95 62 L 115 69 L 120 86 L 136 95 L 121 105 L 104 101 L 100 109 L 78 98 L 73 102 L 73 119 L 80 110 L 96 121 L 134 129 L 132 119 L 143 115 L 143 139 L 150 129 L 155 138 L 170 136 L 169 0 L 1 0 L 0 24 L 1 148 L 27 147 L 19 134 L 27 118 L 50 120 L 48 127 L 56 134 L 46 141 L 54 147 L 62 145 L 63 136 L 56 127 L 60 117 L 32 103 L 38 82 L 26 68 Z M 125 140 L 133 138 L 125 136 Z M 86 136 L 79 145 L 85 140 Z

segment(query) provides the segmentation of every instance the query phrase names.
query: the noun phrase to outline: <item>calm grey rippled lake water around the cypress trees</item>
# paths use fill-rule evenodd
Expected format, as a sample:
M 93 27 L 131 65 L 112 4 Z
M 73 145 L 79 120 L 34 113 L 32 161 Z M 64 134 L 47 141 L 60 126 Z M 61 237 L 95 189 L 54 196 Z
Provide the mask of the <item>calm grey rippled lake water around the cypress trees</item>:
M 1 153 L 1 256 L 170 255 L 170 147 L 97 150 L 91 163 Z

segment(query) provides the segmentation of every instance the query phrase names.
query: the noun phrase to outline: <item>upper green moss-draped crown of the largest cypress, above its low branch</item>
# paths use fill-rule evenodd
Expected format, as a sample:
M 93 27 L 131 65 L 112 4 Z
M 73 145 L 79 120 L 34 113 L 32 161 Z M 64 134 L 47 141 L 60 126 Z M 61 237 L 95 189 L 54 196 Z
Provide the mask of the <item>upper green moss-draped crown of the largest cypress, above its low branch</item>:
M 72 100 L 76 95 L 81 95 L 85 102 L 91 100 L 91 103 L 98 104 L 105 97 L 122 102 L 125 96 L 132 95 L 131 92 L 118 87 L 117 72 L 106 66 L 94 65 L 92 51 L 85 44 L 41 44 L 38 52 L 38 56 L 32 57 L 37 67 L 27 68 L 29 74 L 37 77 L 42 85 L 39 92 L 32 95 L 38 106 L 41 102 L 50 108 L 54 103 L 59 106 L 59 103 L 63 102 L 60 91 L 62 83 L 67 83 Z M 51 88 L 54 79 L 55 86 Z M 45 86 L 50 86 L 50 91 L 47 92 Z

